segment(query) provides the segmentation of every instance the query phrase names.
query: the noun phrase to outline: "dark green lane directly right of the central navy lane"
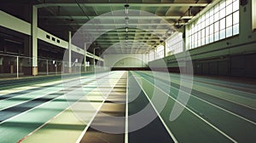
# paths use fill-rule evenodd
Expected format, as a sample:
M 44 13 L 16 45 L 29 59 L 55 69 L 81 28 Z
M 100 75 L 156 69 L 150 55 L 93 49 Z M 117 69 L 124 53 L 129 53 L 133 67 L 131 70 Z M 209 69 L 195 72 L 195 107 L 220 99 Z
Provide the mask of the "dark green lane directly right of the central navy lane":
M 132 72 L 135 77 L 139 75 Z M 148 83 L 147 80 L 142 78 L 143 89 L 146 90 L 146 94 L 149 98 L 152 98 L 153 91 L 148 89 L 154 89 L 154 84 Z M 161 96 L 166 96 L 165 93 L 158 94 L 159 98 Z M 168 98 L 166 106 L 162 112 L 160 112 L 161 117 L 164 119 L 168 128 L 172 131 L 172 134 L 176 137 L 179 142 L 231 142 L 223 134 L 219 134 L 217 130 L 212 129 L 207 123 L 203 122 L 200 118 L 195 117 L 194 114 L 184 109 L 182 114 L 173 122 L 169 121 L 169 116 L 172 111 L 172 106 L 175 101 Z M 156 105 L 154 105 L 156 106 Z

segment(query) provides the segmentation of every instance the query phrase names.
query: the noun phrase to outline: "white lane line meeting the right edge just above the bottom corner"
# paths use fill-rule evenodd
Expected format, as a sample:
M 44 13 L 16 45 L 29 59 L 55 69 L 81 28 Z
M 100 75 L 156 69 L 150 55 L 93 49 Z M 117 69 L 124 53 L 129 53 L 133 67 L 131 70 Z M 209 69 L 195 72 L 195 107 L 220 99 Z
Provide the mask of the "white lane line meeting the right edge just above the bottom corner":
M 150 76 L 150 75 L 149 75 Z M 160 83 L 163 83 L 163 82 L 161 82 L 161 81 L 159 81 Z M 163 83 L 163 84 L 166 84 L 167 86 L 169 86 L 170 87 L 170 85 L 169 84 L 167 84 L 167 83 Z M 177 89 L 177 88 L 175 88 L 175 87 L 172 87 L 173 89 Z M 177 89 L 178 90 L 178 89 Z M 184 92 L 183 90 L 180 90 L 181 92 L 183 92 L 184 94 L 188 94 L 188 93 L 186 93 L 186 92 Z M 167 94 L 167 93 L 166 93 Z M 211 106 L 215 106 L 215 107 L 217 107 L 218 109 L 220 109 L 220 110 L 223 110 L 224 112 L 228 112 L 228 113 L 230 113 L 230 114 L 232 114 L 232 115 L 234 115 L 234 116 L 236 116 L 236 117 L 239 117 L 239 118 L 241 118 L 241 119 L 243 119 L 243 120 L 245 120 L 245 121 L 247 121 L 247 122 L 249 122 L 249 123 L 253 123 L 254 125 L 256 125 L 256 123 L 255 122 L 253 122 L 253 121 L 251 121 L 251 120 L 249 120 L 249 119 L 247 119 L 247 118 L 245 118 L 245 117 L 241 117 L 240 115 L 238 115 L 238 114 L 236 114 L 235 112 L 230 112 L 230 111 L 228 111 L 228 110 L 226 110 L 226 109 L 224 109 L 224 108 L 222 108 L 222 107 L 220 107 L 220 106 L 217 106 L 217 105 L 214 105 L 214 104 L 212 104 L 211 102 L 208 102 L 207 100 L 203 100 L 203 99 L 201 99 L 201 98 L 199 98 L 199 97 L 196 97 L 195 95 L 193 95 L 193 94 L 190 94 L 191 95 L 191 97 L 194 97 L 195 99 L 197 99 L 197 100 L 201 100 L 201 101 L 203 101 L 203 102 L 206 102 L 207 104 L 209 104 L 209 105 L 211 105 Z M 169 95 L 169 96 L 171 96 L 171 95 Z

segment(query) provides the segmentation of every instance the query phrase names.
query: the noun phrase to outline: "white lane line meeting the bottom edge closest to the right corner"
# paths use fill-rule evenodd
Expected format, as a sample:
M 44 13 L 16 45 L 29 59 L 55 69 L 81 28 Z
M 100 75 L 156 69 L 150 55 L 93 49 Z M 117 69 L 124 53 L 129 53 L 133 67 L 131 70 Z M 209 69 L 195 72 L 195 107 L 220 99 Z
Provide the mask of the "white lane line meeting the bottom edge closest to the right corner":
M 138 75 L 139 76 L 139 75 Z M 145 79 L 146 80 L 146 79 Z M 148 80 L 146 80 L 148 81 Z M 150 82 L 148 82 L 150 83 Z M 152 84 L 152 83 L 150 83 Z M 154 86 L 154 84 L 152 84 Z M 166 94 L 165 91 L 163 91 L 162 89 L 155 87 L 157 89 L 159 89 L 160 91 L 163 92 L 163 94 Z M 225 134 L 222 130 L 218 129 L 217 127 L 215 127 L 214 125 L 212 125 L 212 123 L 209 123 L 207 120 L 205 120 L 204 118 L 202 118 L 201 116 L 197 115 L 195 112 L 193 112 L 192 110 L 190 110 L 187 106 L 184 106 L 181 102 L 179 102 L 178 100 L 174 99 L 172 96 L 170 96 L 169 94 L 166 94 L 168 97 L 172 98 L 172 100 L 176 101 L 178 104 L 180 104 L 181 106 L 183 106 L 185 109 L 187 109 L 189 112 L 191 112 L 192 114 L 195 115 L 195 117 L 200 118 L 203 122 L 207 123 L 209 126 L 211 126 L 213 129 L 216 129 L 218 131 L 218 133 L 223 134 L 226 138 L 228 138 L 229 140 L 233 141 L 233 142 L 237 142 L 235 139 L 231 138 L 228 134 Z

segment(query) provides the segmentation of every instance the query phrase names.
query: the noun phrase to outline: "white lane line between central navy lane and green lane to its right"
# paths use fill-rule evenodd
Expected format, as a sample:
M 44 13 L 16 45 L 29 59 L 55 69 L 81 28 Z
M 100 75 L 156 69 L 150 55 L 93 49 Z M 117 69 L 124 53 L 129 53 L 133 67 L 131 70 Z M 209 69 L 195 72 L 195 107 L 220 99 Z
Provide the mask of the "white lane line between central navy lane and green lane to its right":
M 133 76 L 134 74 L 132 74 Z M 137 81 L 137 77 L 135 77 L 136 81 Z M 152 101 L 148 98 L 148 94 L 146 93 L 146 91 L 143 89 L 142 85 L 140 84 L 140 82 L 137 81 L 137 83 L 139 84 L 140 88 L 143 90 L 143 93 L 146 94 L 146 97 L 148 99 L 148 101 L 150 102 L 151 106 L 154 108 L 154 112 L 157 114 L 157 116 L 160 118 L 160 121 L 163 123 L 163 125 L 165 126 L 168 134 L 170 134 L 172 140 L 177 143 L 177 139 L 175 138 L 174 134 L 172 134 L 172 131 L 168 128 L 168 126 L 166 125 L 165 121 L 163 120 L 163 118 L 160 116 L 160 113 L 157 112 L 156 108 L 154 107 L 154 104 L 152 103 Z

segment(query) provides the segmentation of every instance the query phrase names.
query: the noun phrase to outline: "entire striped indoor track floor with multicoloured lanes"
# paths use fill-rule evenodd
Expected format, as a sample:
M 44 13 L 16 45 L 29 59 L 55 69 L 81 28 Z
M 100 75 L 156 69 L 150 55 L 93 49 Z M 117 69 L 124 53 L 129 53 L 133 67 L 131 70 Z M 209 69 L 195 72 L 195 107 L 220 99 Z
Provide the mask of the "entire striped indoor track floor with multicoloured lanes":
M 255 84 L 169 77 L 1 81 L 0 142 L 255 142 Z M 180 115 L 172 120 L 175 107 Z

